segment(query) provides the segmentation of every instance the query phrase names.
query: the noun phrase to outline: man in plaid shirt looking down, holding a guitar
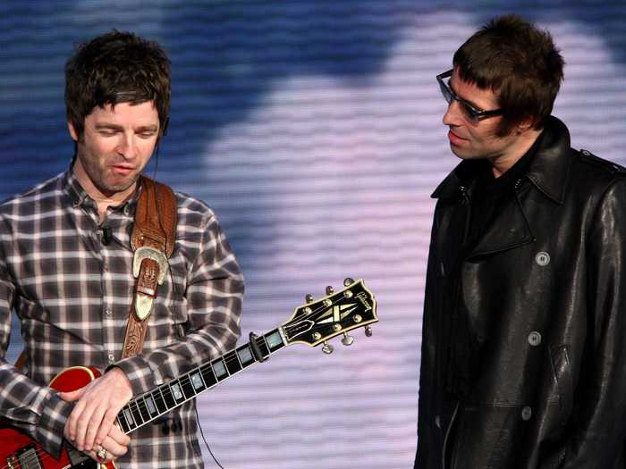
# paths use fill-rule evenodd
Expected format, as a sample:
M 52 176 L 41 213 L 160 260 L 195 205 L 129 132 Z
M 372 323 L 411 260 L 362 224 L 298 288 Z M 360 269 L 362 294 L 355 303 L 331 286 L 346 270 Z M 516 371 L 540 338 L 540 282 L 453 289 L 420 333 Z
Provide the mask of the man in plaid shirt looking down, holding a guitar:
M 194 399 L 132 438 L 114 424 L 133 396 L 240 334 L 243 281 L 215 214 L 171 191 L 168 210 L 141 176 L 170 96 L 157 43 L 113 31 L 81 45 L 65 66 L 69 169 L 0 205 L 0 416 L 55 457 L 72 448 L 118 467 L 203 465 Z M 12 310 L 22 371 L 4 360 Z M 48 386 L 72 366 L 105 373 L 72 391 Z

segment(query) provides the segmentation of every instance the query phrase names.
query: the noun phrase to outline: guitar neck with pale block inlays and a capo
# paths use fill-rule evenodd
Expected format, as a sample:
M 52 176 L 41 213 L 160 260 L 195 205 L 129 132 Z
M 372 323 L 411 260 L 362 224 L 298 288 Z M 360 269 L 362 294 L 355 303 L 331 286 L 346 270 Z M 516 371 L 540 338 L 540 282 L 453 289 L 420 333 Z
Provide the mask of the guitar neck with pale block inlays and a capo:
M 126 434 L 135 431 L 140 426 L 153 422 L 161 415 L 182 406 L 201 392 L 214 388 L 218 383 L 241 372 L 244 368 L 258 361 L 264 361 L 268 356 L 285 347 L 283 336 L 278 328 L 253 340 L 260 359 L 252 349 L 251 342 L 233 348 L 222 356 L 200 364 L 173 381 L 162 384 L 136 398 L 131 398 L 117 415 L 119 427 Z

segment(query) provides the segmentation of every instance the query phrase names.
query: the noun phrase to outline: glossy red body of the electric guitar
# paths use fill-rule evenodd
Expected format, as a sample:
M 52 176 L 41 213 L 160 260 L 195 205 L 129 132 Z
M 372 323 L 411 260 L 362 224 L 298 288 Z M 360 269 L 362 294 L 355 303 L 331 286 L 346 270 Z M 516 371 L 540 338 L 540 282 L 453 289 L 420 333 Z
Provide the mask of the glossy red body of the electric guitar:
M 96 368 L 74 366 L 57 374 L 50 387 L 59 391 L 80 389 L 99 377 Z M 72 452 L 72 455 L 70 454 Z M 73 460 L 73 462 L 72 462 Z M 76 450 L 63 448 L 61 458 L 56 459 L 41 448 L 35 440 L 12 428 L 0 428 L 0 467 L 3 469 L 115 469 L 112 462 L 98 464 L 89 456 Z

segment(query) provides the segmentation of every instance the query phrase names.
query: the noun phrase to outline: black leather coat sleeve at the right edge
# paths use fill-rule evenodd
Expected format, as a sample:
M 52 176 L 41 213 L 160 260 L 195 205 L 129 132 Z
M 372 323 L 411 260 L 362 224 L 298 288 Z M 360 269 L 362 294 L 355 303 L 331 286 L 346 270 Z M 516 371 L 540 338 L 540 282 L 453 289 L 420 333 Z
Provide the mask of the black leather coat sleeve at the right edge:
M 626 435 L 626 179 L 605 191 L 588 239 L 588 335 L 562 469 L 613 467 Z M 543 468 L 544 465 L 541 465 Z M 552 467 L 552 466 L 551 466 Z

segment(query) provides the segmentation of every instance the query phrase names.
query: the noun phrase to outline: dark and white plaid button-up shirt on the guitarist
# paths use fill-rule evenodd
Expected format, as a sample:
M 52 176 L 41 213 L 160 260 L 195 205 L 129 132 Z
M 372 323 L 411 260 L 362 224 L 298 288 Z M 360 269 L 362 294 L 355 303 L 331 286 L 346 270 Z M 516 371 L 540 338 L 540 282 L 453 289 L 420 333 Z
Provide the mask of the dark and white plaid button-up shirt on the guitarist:
M 0 415 L 56 456 L 72 404 L 47 383 L 64 368 L 115 364 L 138 395 L 233 348 L 240 334 L 239 265 L 211 209 L 177 193 L 176 246 L 143 354 L 121 359 L 138 194 L 109 207 L 107 244 L 97 205 L 71 171 L 0 205 Z M 28 377 L 4 360 L 12 308 L 21 320 Z M 116 464 L 201 467 L 195 400 L 167 417 L 132 432 Z

